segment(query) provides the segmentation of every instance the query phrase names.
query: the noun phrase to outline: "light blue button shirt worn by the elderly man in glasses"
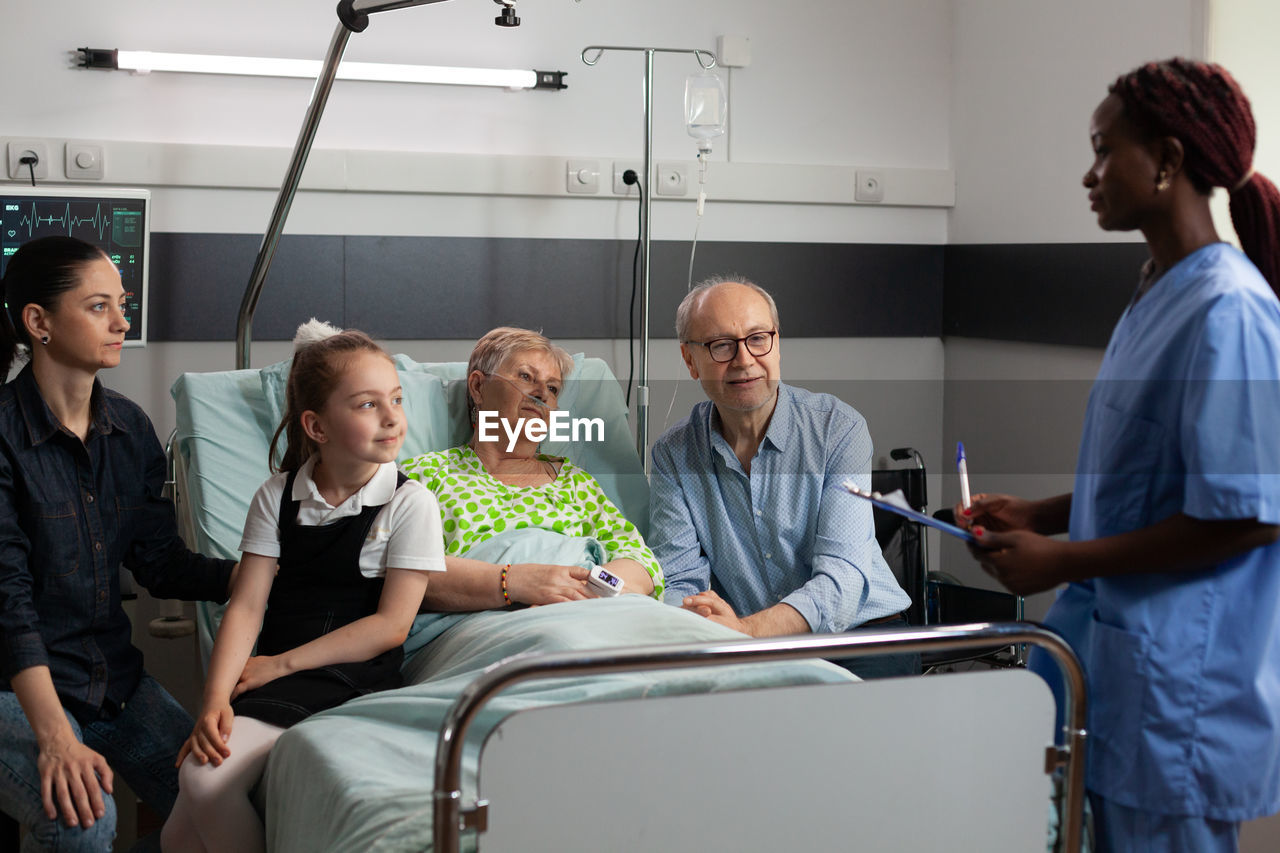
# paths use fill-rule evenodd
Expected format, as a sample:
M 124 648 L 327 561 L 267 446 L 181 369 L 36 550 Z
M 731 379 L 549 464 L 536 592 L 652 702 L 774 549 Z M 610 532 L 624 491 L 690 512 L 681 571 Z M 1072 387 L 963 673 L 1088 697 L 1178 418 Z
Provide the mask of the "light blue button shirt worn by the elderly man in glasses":
M 714 589 L 739 616 L 777 603 L 813 631 L 844 631 L 911 603 L 876 543 L 867 421 L 831 394 L 778 384 L 750 475 L 709 401 L 653 446 L 649 544 L 663 601 Z M 713 423 L 714 421 L 714 423 Z

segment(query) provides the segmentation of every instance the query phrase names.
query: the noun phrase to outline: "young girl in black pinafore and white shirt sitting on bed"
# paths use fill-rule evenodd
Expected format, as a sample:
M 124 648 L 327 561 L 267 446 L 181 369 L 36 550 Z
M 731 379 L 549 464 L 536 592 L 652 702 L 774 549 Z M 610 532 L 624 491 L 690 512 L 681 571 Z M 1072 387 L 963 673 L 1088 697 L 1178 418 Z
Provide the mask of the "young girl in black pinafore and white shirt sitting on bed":
M 284 459 L 250 507 L 241 575 L 178 756 L 161 838 L 173 853 L 265 848 L 248 794 L 271 744 L 316 711 L 401 685 L 426 573 L 444 570 L 439 506 L 396 467 L 399 379 L 369 337 L 315 320 L 298 329 L 273 460 L 282 432 Z

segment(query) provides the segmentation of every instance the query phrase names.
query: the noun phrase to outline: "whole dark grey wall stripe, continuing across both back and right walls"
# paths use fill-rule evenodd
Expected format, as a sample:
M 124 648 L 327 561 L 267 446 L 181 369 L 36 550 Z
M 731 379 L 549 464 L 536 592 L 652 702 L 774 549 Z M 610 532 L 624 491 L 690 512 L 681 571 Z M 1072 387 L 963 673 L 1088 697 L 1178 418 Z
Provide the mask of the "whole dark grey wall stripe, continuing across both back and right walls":
M 230 341 L 256 234 L 151 236 L 154 341 Z M 379 338 L 474 339 L 499 324 L 623 338 L 635 243 L 287 236 L 253 319 L 287 341 L 319 316 Z M 941 337 L 1105 346 L 1144 243 L 902 246 L 703 242 L 694 277 L 769 288 L 788 337 Z M 650 334 L 672 337 L 689 243 L 653 243 Z M 637 316 L 639 323 L 639 316 Z

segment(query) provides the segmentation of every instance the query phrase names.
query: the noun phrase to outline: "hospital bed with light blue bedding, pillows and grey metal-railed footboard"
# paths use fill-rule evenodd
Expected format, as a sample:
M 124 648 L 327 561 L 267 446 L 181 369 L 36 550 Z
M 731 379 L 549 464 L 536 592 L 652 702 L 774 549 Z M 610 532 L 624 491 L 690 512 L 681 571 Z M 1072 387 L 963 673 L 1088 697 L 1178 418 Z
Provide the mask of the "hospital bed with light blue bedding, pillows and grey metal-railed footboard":
M 396 360 L 404 455 L 465 441 L 465 365 Z M 173 387 L 179 515 L 206 553 L 238 556 L 287 370 Z M 643 528 L 648 485 L 607 365 L 575 356 L 561 406 L 602 418 L 604 441 L 545 450 Z M 207 653 L 218 612 L 197 612 Z M 858 683 L 818 660 L 993 643 L 1062 666 L 1056 738 L 1051 694 L 1023 670 Z M 1047 817 L 1078 849 L 1084 681 L 1029 625 L 749 640 L 623 596 L 458 617 L 412 648 L 406 684 L 280 738 L 260 789 L 270 849 L 1023 852 L 1043 849 Z

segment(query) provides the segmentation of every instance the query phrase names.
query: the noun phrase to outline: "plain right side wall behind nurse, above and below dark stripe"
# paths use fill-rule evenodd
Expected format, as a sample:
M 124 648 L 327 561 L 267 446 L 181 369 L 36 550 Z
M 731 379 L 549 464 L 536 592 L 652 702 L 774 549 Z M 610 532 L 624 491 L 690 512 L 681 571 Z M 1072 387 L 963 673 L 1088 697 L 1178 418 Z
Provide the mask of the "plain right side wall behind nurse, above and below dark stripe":
M 1135 65 L 1203 54 L 1203 0 L 957 0 L 952 19 L 948 242 L 1140 241 L 1102 232 L 1089 211 L 1080 183 L 1092 160 L 1089 117 L 1107 85 Z M 1070 491 L 1101 351 L 959 338 L 945 350 L 943 435 L 947 447 L 965 442 L 973 488 Z M 943 496 L 957 500 L 954 476 Z M 959 546 L 943 544 L 942 560 L 965 581 L 996 588 Z M 1028 613 L 1042 615 L 1050 601 L 1033 597 Z

